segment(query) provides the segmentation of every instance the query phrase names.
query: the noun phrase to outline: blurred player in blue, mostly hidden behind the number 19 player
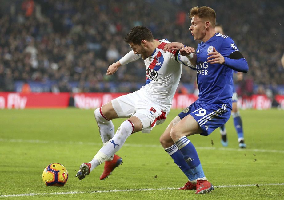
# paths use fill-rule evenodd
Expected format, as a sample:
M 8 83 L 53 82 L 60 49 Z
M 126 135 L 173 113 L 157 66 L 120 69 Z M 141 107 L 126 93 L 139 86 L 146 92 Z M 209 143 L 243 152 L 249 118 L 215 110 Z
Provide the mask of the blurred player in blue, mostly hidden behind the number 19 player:
M 223 27 L 220 24 L 215 25 L 215 31 L 216 33 L 221 33 L 224 35 Z M 236 71 L 234 71 L 236 72 Z M 236 72 L 238 80 L 242 80 L 242 73 Z M 238 134 L 238 143 L 240 148 L 246 148 L 245 139 L 244 139 L 244 133 L 242 128 L 242 118 L 240 116 L 240 112 L 238 111 L 238 95 L 235 90 L 234 84 L 233 84 L 233 97 L 232 97 L 232 112 L 231 116 L 233 116 L 234 119 L 234 127 Z M 227 139 L 227 131 L 225 128 L 225 124 L 220 127 L 220 133 L 221 133 L 221 143 L 224 147 L 228 146 L 228 139 Z

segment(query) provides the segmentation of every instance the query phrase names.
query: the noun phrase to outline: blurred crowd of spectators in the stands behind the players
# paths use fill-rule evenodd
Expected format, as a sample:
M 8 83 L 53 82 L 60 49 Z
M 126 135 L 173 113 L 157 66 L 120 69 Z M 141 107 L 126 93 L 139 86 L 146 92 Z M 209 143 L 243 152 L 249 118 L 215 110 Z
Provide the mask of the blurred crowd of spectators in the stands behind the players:
M 42 92 L 133 92 L 145 84 L 142 59 L 106 76 L 108 66 L 131 50 L 123 37 L 134 26 L 143 25 L 157 39 L 196 48 L 198 41 L 188 30 L 188 12 L 193 6 L 206 5 L 216 11 L 217 22 L 248 61 L 249 72 L 236 82 L 238 93 L 250 95 L 260 92 L 259 88 L 277 93 L 277 86 L 284 85 L 283 4 L 269 0 L 11 0 L 0 14 L 0 91 L 38 83 L 48 86 Z M 196 72 L 184 66 L 178 91 L 193 92 L 195 79 Z

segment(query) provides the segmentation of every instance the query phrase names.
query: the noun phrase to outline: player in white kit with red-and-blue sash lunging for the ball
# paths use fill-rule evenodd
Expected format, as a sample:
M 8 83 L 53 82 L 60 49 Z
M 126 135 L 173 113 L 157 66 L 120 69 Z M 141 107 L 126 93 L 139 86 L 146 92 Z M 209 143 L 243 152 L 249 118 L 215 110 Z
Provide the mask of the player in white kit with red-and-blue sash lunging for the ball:
M 94 111 L 103 147 L 89 163 L 83 163 L 77 173 L 79 180 L 85 178 L 95 167 L 105 163 L 105 169 L 100 179 L 106 178 L 117 167 L 122 159 L 114 155 L 132 133 L 142 131 L 150 133 L 156 124 L 162 124 L 166 119 L 174 93 L 182 73 L 181 61 L 190 62 L 181 57 L 179 51 L 164 52 L 166 39 L 154 40 L 149 29 L 143 26 L 134 27 L 124 38 L 133 49 L 117 62 L 109 66 L 107 75 L 117 71 L 119 66 L 139 57 L 145 62 L 146 83 L 136 92 L 120 96 Z M 114 135 L 112 119 L 128 118 L 118 128 Z

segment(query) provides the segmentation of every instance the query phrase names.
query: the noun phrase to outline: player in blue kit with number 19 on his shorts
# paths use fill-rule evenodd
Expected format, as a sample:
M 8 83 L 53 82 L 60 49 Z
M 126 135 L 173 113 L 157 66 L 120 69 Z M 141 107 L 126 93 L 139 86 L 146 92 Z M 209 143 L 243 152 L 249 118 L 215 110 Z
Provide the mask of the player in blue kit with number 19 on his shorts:
M 195 40 L 201 40 L 196 54 L 194 48 L 181 43 L 167 44 L 164 51 L 179 49 L 180 55 L 196 66 L 199 96 L 172 120 L 160 142 L 189 179 L 180 189 L 196 189 L 195 193 L 200 194 L 214 188 L 205 177 L 197 151 L 187 136 L 209 135 L 228 121 L 232 109 L 233 70 L 247 72 L 248 65 L 234 41 L 216 33 L 213 9 L 194 7 L 190 18 L 189 30 Z

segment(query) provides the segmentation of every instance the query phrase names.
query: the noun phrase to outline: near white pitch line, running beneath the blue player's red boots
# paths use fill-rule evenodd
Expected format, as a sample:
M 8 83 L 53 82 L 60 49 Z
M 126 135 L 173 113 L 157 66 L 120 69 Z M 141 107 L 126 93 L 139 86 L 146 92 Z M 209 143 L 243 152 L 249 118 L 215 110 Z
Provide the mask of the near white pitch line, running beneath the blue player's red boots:
M 247 184 L 247 185 L 223 185 L 214 186 L 214 188 L 228 188 L 228 187 L 251 187 L 251 186 L 278 186 L 284 183 L 267 183 L 267 184 Z M 39 195 L 62 195 L 62 194 L 84 194 L 84 193 L 108 193 L 108 192 L 139 192 L 151 190 L 177 190 L 178 188 L 145 188 L 145 189 L 125 189 L 125 190 L 96 190 L 96 191 L 70 191 L 70 192 L 54 192 L 54 193 L 27 193 L 27 194 L 7 194 L 0 195 L 0 197 L 28 197 Z

